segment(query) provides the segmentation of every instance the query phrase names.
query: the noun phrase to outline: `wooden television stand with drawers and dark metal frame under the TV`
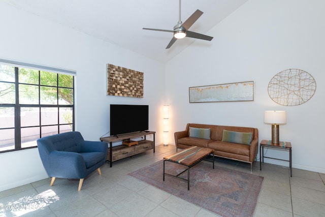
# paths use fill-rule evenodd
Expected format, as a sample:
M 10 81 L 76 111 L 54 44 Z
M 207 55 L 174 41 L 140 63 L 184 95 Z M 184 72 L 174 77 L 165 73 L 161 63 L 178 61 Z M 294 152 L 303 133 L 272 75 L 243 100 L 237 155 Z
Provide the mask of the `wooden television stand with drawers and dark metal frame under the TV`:
M 118 161 L 124 158 L 128 158 L 134 156 L 136 154 L 145 152 L 147 150 L 153 149 L 153 153 L 155 151 L 155 135 L 156 132 L 154 131 L 142 131 L 142 132 L 134 132 L 134 133 L 125 133 L 119 134 L 118 137 L 116 136 L 108 136 L 108 137 L 101 137 L 100 140 L 103 142 L 107 142 L 110 144 L 107 153 L 107 161 L 110 161 L 110 167 L 113 166 L 114 161 Z M 146 140 L 146 136 L 153 134 L 153 141 Z M 134 145 L 117 145 L 113 147 L 113 142 L 119 141 L 129 141 L 133 138 L 143 137 L 143 140 L 138 141 L 138 144 Z

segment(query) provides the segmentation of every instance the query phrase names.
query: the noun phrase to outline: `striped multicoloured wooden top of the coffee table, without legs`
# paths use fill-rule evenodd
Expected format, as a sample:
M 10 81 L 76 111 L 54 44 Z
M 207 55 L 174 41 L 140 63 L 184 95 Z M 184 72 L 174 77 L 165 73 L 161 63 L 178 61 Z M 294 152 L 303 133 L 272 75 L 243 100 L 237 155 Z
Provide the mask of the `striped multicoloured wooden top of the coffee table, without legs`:
M 177 152 L 164 158 L 166 161 L 175 162 L 185 166 L 191 166 L 192 164 L 200 161 L 204 157 L 211 154 L 214 150 L 211 148 L 203 148 L 198 146 L 192 146 Z

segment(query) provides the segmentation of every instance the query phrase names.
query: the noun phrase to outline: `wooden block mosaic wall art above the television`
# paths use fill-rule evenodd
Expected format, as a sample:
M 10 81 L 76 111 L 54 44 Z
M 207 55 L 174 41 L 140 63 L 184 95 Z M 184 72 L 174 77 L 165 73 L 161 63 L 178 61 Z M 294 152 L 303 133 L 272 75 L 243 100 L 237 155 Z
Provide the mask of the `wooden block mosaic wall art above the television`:
M 107 64 L 107 95 L 143 98 L 143 72 Z

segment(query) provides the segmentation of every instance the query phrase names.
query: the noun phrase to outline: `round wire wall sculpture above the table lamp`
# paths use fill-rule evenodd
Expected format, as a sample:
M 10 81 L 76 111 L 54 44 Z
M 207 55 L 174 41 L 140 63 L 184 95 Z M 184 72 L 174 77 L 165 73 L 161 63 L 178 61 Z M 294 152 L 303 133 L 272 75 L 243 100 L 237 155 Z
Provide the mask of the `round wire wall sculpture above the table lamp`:
M 283 106 L 298 106 L 312 98 L 316 81 L 308 72 L 287 69 L 276 74 L 269 82 L 270 98 Z

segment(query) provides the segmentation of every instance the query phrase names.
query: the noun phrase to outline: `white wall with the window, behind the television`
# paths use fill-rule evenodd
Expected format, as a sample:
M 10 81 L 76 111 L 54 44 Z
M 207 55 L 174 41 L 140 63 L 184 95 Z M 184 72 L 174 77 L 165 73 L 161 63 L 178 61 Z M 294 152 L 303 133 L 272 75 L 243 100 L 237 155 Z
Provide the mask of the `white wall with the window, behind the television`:
M 109 132 L 110 104 L 147 104 L 149 128 L 162 141 L 163 64 L 3 3 L 0 20 L 0 58 L 76 70 L 75 130 L 84 139 Z M 108 63 L 143 72 L 144 98 L 106 96 Z M 0 191 L 48 177 L 37 148 L 0 153 L 0 165 Z

